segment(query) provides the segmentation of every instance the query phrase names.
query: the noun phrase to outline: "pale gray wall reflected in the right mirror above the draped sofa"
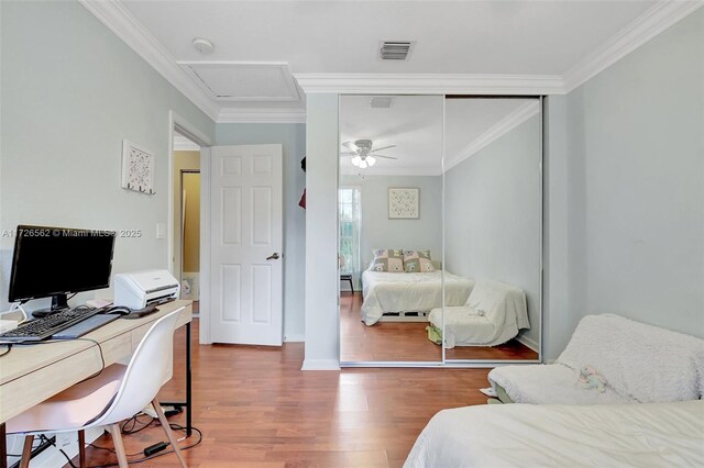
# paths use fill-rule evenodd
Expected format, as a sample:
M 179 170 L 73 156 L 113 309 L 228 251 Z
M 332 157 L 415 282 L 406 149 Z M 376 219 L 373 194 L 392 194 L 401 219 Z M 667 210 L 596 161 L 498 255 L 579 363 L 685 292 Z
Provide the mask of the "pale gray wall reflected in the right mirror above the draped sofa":
M 536 346 L 540 331 L 540 115 L 446 172 L 448 271 L 526 292 Z

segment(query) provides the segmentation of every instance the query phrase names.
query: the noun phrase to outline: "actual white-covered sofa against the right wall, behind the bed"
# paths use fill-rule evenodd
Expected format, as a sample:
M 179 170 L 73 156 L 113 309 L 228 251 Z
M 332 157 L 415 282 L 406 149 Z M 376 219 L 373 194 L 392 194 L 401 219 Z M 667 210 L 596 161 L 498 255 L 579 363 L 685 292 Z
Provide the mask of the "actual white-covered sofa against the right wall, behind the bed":
M 591 366 L 605 389 L 580 383 Z M 704 395 L 704 339 L 618 315 L 587 315 L 551 365 L 493 369 L 503 402 L 602 404 L 697 400 Z

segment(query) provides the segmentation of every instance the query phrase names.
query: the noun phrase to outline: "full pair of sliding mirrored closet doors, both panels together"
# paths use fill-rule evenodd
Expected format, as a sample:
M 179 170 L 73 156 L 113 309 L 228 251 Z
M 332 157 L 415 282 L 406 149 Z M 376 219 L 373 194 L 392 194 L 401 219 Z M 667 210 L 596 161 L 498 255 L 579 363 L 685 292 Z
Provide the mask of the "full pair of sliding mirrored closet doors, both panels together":
M 540 99 L 341 96 L 342 365 L 537 361 Z

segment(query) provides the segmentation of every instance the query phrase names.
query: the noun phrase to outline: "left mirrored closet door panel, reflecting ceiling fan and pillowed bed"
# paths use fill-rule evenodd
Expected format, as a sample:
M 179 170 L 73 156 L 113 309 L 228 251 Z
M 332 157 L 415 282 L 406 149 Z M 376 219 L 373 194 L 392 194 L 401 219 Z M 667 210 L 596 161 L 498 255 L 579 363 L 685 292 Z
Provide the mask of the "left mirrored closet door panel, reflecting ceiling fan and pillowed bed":
M 442 361 L 443 97 L 340 97 L 340 360 Z

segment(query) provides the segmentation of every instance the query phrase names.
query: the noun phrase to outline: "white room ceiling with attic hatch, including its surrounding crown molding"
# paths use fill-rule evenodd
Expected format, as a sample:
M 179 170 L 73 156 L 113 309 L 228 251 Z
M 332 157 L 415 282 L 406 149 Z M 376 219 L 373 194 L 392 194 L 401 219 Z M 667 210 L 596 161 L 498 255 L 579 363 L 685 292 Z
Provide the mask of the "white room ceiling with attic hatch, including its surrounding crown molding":
M 257 120 L 257 114 L 260 121 L 301 121 L 305 94 L 292 74 L 307 92 L 565 92 L 701 5 L 652 0 L 79 1 L 222 122 Z M 195 37 L 210 40 L 215 51 L 199 53 L 191 45 Z M 382 40 L 415 41 L 410 59 L 380 60 Z M 393 91 L 382 91 L 381 83 Z

